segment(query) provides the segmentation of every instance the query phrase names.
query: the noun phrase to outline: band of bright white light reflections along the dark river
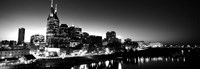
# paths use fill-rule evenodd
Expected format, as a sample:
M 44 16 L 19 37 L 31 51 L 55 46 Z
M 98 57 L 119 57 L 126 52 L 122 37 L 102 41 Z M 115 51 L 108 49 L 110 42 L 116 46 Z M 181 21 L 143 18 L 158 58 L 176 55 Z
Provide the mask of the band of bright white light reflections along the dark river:
M 123 69 L 125 65 L 140 66 L 150 62 L 185 62 L 185 57 L 136 57 L 136 58 L 118 58 L 90 64 L 81 64 L 73 66 L 71 69 Z

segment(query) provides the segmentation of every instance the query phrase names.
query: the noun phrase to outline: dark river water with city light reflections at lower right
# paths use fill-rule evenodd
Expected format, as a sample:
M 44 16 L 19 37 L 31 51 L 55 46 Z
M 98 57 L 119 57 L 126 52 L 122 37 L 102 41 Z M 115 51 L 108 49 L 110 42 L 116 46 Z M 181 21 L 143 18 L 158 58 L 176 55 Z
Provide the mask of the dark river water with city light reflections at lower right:
M 156 51 L 163 52 L 163 51 Z M 175 49 L 171 55 L 116 57 L 115 59 L 81 64 L 71 69 L 198 69 L 199 49 Z M 149 53 L 151 54 L 151 53 Z

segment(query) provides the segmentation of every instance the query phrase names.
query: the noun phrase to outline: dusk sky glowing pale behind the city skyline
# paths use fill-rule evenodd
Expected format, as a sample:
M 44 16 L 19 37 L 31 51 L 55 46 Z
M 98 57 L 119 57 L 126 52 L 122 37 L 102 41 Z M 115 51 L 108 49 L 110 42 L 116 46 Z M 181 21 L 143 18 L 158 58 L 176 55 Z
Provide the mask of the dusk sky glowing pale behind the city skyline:
M 105 38 L 116 31 L 122 40 L 163 43 L 200 43 L 199 2 L 175 0 L 54 0 L 60 24 L 75 25 Z M 50 0 L 1 0 L 0 40 L 17 40 L 24 27 L 25 41 L 46 35 Z

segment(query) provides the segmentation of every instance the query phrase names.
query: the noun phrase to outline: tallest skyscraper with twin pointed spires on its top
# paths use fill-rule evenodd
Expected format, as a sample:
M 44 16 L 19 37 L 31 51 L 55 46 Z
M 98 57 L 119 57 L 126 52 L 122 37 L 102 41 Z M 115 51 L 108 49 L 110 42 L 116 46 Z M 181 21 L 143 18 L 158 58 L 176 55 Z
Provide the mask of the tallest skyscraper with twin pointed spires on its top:
M 57 43 L 57 33 L 59 31 L 59 19 L 57 16 L 57 4 L 53 4 L 51 0 L 51 12 L 47 18 L 47 31 L 46 31 L 46 43 L 49 47 L 55 47 Z

